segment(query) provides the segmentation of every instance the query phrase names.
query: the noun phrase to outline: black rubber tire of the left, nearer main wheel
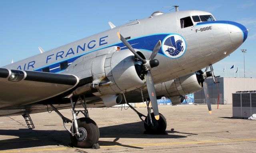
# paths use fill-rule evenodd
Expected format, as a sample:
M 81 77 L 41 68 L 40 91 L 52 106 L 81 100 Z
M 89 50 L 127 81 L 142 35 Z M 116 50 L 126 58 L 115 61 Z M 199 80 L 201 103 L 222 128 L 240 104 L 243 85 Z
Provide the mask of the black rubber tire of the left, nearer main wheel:
M 100 137 L 100 131 L 98 125 L 90 118 L 82 117 L 77 120 L 78 127 L 86 129 L 87 137 L 84 141 L 78 141 L 76 136 L 70 134 L 71 142 L 74 147 L 78 148 L 92 148 L 92 145 L 98 143 Z

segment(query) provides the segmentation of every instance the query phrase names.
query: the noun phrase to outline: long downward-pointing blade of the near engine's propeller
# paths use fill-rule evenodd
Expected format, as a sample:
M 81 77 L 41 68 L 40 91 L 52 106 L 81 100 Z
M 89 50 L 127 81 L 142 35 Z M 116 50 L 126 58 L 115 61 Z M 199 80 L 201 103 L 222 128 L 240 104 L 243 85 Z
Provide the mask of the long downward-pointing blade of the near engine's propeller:
M 156 90 L 155 90 L 155 86 L 154 86 L 154 81 L 153 81 L 153 77 L 150 71 L 147 71 L 146 74 L 146 85 L 148 88 L 148 95 L 151 101 L 151 105 L 154 111 L 154 116 L 155 119 L 158 120 L 159 119 L 159 112 L 158 112 L 158 105 L 157 105 L 157 101 L 156 101 Z

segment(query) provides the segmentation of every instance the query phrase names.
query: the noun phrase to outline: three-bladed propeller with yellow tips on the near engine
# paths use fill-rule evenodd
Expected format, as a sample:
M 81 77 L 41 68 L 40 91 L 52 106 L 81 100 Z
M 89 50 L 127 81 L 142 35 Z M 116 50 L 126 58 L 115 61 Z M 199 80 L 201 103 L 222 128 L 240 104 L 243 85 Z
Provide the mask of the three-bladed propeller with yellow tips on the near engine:
M 159 112 L 158 112 L 158 105 L 156 101 L 156 90 L 154 86 L 154 80 L 152 77 L 152 74 L 150 72 L 151 68 L 154 68 L 159 65 L 159 61 L 157 59 L 154 59 L 161 48 L 161 41 L 159 40 L 156 46 L 154 47 L 152 54 L 148 60 L 144 60 L 136 51 L 132 48 L 132 46 L 129 44 L 129 42 L 119 33 L 117 32 L 118 38 L 124 43 L 124 45 L 134 54 L 134 56 L 143 63 L 144 71 L 146 72 L 146 85 L 148 88 L 148 95 L 151 101 L 152 109 L 154 112 L 155 119 L 158 120 Z

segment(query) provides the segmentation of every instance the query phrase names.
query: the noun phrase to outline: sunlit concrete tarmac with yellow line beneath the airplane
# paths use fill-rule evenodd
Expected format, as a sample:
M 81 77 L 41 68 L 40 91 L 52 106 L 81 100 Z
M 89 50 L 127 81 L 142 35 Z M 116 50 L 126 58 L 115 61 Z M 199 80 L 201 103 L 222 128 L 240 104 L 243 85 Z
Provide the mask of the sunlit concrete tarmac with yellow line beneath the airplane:
M 69 109 L 61 112 L 71 119 Z M 0 117 L 0 153 L 256 152 L 256 121 L 232 119 L 232 105 L 212 105 L 212 114 L 207 105 L 159 106 L 159 112 L 168 135 L 143 134 L 144 124 L 130 108 L 89 109 L 100 129 L 101 149 L 70 147 L 70 135 L 54 111 L 31 114 L 35 129 L 28 129 L 22 116 Z

